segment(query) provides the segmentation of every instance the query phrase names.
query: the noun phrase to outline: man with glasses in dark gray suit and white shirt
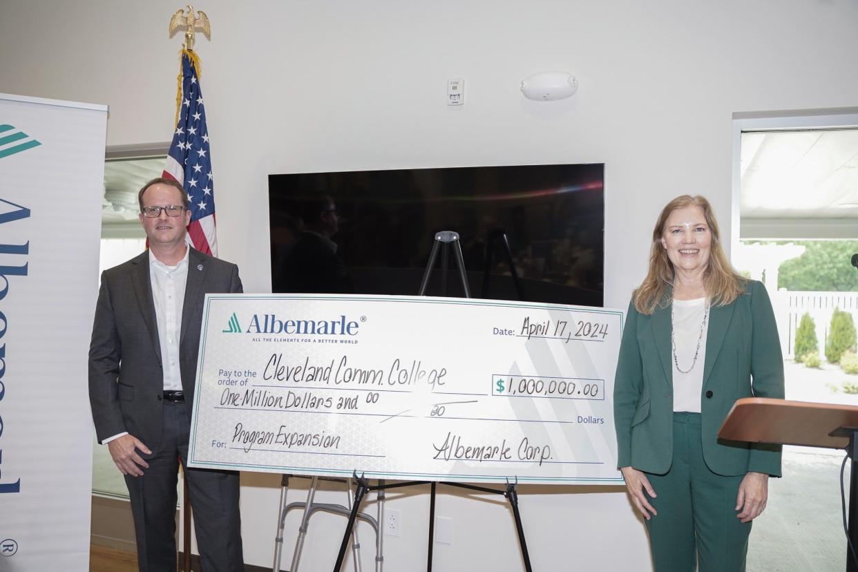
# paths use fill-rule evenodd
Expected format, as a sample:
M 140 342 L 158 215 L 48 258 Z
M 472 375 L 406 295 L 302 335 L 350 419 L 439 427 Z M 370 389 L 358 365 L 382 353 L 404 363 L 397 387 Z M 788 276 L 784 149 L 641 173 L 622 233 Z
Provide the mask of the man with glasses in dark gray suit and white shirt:
M 185 244 L 182 186 L 140 190 L 149 250 L 101 274 L 89 346 L 89 400 L 99 443 L 125 475 L 145 571 L 176 569 L 178 459 L 188 455 L 190 408 L 207 292 L 241 292 L 239 268 Z M 185 467 L 206 572 L 243 570 L 239 474 Z M 185 547 L 188 550 L 189 547 Z

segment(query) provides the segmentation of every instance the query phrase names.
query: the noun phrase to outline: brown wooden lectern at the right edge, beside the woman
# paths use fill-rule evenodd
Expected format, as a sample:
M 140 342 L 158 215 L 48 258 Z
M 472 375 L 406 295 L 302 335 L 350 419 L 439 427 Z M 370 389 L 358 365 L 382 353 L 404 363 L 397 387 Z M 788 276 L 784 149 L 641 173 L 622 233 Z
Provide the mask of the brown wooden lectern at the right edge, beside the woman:
M 728 441 L 845 449 L 849 479 L 849 540 L 858 548 L 858 406 L 748 397 L 737 400 L 718 437 Z M 847 547 L 847 572 L 858 565 Z

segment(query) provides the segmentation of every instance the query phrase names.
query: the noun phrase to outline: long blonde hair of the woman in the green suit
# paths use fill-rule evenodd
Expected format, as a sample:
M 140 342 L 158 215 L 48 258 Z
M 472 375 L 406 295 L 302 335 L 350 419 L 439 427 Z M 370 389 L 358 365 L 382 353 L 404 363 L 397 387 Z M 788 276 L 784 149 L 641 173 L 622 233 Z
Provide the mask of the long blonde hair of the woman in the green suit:
M 670 303 L 674 290 L 674 265 L 668 258 L 668 251 L 662 244 L 664 227 L 668 224 L 670 214 L 679 208 L 698 207 L 703 210 L 706 224 L 712 235 L 709 265 L 704 272 L 706 296 L 711 304 L 731 304 L 740 294 L 745 292 L 745 279 L 738 274 L 721 246 L 721 232 L 712 206 L 703 196 L 681 195 L 668 202 L 662 209 L 652 232 L 652 247 L 650 249 L 650 271 L 644 282 L 634 293 L 635 308 L 642 314 L 652 314 L 656 308 L 665 308 Z

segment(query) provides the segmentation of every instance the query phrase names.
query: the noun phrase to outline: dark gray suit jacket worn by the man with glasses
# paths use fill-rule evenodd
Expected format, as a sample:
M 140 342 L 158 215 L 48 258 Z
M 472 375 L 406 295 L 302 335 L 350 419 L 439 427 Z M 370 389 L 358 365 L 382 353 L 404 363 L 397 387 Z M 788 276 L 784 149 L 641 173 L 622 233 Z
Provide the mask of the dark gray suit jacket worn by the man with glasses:
M 188 255 L 179 336 L 185 400 L 194 402 L 196 358 L 206 293 L 242 292 L 239 268 L 194 249 Z M 101 274 L 89 346 L 89 402 L 99 443 L 123 431 L 160 448 L 163 418 L 158 324 L 149 280 L 148 251 Z

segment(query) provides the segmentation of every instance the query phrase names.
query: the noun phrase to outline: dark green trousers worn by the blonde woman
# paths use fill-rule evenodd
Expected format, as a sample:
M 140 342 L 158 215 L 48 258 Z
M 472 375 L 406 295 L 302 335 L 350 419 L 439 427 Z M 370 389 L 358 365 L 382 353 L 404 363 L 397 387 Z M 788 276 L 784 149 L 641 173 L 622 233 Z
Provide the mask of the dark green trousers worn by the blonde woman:
M 658 512 L 647 528 L 656 572 L 744 572 L 751 523 L 736 518 L 745 475 L 724 477 L 706 467 L 700 414 L 674 413 L 674 460 L 667 474 L 647 473 Z

